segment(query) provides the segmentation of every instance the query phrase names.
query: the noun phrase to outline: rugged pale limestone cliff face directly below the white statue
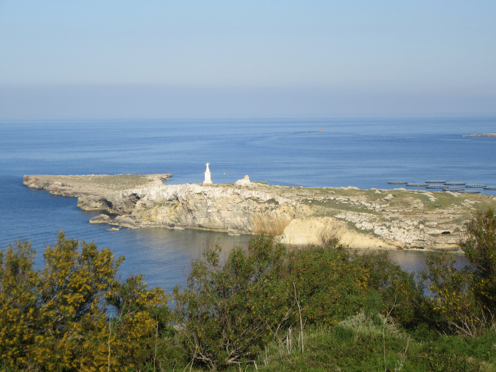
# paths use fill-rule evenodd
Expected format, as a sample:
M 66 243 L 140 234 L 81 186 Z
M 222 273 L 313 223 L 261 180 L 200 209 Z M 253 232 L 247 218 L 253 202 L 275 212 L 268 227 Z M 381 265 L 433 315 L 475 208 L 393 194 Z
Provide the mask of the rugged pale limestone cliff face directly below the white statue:
M 129 215 L 137 226 L 204 228 L 281 235 L 296 202 L 257 189 L 199 184 L 161 185 L 79 197 L 78 207 Z

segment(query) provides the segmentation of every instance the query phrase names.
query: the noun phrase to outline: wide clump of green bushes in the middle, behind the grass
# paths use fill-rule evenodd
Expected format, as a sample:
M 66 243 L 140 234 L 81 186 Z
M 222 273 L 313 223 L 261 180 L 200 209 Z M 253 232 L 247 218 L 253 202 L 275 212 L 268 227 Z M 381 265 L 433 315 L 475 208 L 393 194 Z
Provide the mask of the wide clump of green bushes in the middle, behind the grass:
M 394 280 L 413 283 L 387 254 L 350 257 L 337 241 L 287 251 L 260 234 L 223 264 L 220 253 L 218 243 L 208 247 L 192 262 L 186 287 L 174 290 L 182 344 L 212 370 L 254 361 L 269 342 L 291 337 L 290 327 L 334 324 L 364 306 L 387 311 Z

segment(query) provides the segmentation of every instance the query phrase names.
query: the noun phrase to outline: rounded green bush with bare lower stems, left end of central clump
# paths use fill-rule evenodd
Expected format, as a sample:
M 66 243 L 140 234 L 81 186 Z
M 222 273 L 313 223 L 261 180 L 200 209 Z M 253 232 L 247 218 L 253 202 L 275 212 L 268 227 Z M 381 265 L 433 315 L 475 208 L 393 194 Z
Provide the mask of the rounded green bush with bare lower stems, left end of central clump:
M 233 249 L 222 265 L 218 242 L 191 264 L 186 288 L 174 289 L 184 348 L 216 370 L 250 361 L 284 327 L 293 306 L 281 282 L 285 248 L 258 235 L 248 252 Z

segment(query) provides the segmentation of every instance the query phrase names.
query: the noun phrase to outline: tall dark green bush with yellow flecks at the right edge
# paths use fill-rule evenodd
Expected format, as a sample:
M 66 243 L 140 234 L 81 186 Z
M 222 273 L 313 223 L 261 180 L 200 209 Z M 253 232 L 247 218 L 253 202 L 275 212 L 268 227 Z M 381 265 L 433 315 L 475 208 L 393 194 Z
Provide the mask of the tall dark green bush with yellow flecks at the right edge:
M 431 252 L 420 278 L 429 290 L 426 320 L 440 333 L 476 336 L 494 324 L 496 313 L 496 215 L 478 212 L 460 240 L 470 266 L 456 269 L 453 254 Z

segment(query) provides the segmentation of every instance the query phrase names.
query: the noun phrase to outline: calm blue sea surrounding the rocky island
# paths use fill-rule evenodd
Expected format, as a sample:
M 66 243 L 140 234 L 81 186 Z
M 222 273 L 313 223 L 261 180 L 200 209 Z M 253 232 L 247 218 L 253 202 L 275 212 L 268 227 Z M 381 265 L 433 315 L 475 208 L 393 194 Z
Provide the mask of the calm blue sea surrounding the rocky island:
M 319 132 L 323 125 L 324 132 Z M 143 273 L 150 286 L 169 290 L 207 242 L 230 249 L 249 237 L 167 229 L 90 225 L 96 215 L 75 198 L 22 185 L 25 174 L 172 173 L 170 184 L 201 183 L 210 163 L 214 183 L 393 188 L 388 181 L 441 179 L 496 186 L 496 118 L 333 120 L 167 120 L 0 123 L 0 248 L 29 240 L 41 251 L 59 230 L 67 237 L 125 255 L 123 277 Z M 490 190 L 483 193 L 495 194 Z M 424 254 L 394 251 L 407 270 Z

